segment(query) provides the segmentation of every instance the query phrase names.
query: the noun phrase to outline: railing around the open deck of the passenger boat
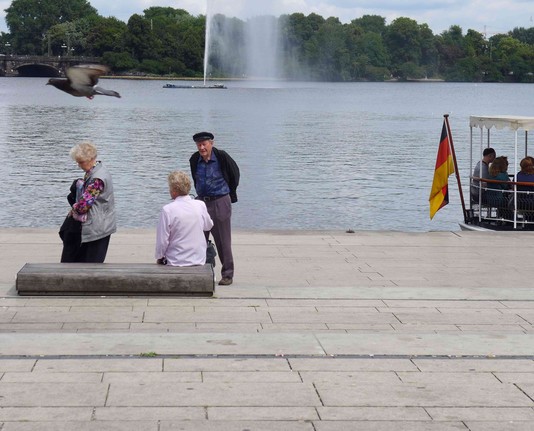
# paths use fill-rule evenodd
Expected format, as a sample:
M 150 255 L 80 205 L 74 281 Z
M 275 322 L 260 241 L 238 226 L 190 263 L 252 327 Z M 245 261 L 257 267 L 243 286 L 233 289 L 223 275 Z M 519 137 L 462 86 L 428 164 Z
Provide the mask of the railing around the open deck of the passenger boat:
M 472 221 L 534 228 L 534 183 L 471 177 L 470 192 Z

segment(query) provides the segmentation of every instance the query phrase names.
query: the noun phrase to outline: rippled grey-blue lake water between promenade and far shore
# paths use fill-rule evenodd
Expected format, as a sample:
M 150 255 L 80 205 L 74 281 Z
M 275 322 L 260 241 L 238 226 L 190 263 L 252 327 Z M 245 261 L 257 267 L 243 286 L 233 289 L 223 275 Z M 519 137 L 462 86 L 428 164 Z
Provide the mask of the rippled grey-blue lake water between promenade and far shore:
M 456 180 L 434 220 L 428 195 L 443 114 L 467 191 L 469 115 L 534 115 L 534 85 L 254 83 L 165 89 L 102 80 L 121 99 L 75 98 L 46 78 L 0 78 L 0 226 L 57 227 L 93 141 L 111 170 L 120 227 L 150 228 L 167 174 L 189 172 L 191 136 L 215 134 L 241 169 L 237 229 L 458 230 Z M 176 82 L 175 82 L 176 83 Z M 200 85 L 200 84 L 199 84 Z

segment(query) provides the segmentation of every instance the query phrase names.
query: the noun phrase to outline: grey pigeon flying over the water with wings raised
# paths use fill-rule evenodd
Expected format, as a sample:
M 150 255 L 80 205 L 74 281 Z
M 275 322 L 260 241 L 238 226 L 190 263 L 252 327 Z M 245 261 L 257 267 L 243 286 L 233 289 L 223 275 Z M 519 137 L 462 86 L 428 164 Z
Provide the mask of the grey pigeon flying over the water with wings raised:
M 88 99 L 92 99 L 97 94 L 121 97 L 116 91 L 106 90 L 97 85 L 98 77 L 108 72 L 109 68 L 101 64 L 80 64 L 67 69 L 67 79 L 51 78 L 46 85 L 53 85 L 65 93 Z

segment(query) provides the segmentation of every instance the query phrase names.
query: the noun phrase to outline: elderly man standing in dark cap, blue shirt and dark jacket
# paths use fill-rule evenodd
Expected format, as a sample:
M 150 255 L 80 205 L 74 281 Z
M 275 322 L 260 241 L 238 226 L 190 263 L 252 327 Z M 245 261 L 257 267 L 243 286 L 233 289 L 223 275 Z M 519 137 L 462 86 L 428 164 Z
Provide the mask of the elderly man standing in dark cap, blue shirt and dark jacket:
M 222 263 L 219 285 L 228 286 L 234 278 L 231 218 L 232 203 L 237 202 L 239 167 L 226 151 L 213 146 L 213 140 L 210 132 L 193 135 L 198 151 L 193 153 L 189 164 L 197 199 L 206 204 L 214 223 L 211 234 Z

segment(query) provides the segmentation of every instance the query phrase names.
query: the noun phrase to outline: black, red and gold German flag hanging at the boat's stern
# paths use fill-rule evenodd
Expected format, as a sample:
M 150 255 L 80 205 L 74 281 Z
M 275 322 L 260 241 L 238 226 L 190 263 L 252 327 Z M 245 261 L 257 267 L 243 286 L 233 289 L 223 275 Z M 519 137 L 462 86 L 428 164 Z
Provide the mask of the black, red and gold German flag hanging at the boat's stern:
M 438 210 L 449 203 L 449 176 L 454 173 L 454 162 L 452 159 L 451 145 L 447 125 L 443 121 L 441 129 L 441 139 L 439 141 L 438 157 L 436 159 L 436 169 L 434 171 L 434 181 L 430 191 L 430 219 L 436 215 Z

